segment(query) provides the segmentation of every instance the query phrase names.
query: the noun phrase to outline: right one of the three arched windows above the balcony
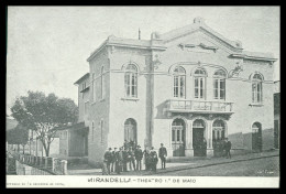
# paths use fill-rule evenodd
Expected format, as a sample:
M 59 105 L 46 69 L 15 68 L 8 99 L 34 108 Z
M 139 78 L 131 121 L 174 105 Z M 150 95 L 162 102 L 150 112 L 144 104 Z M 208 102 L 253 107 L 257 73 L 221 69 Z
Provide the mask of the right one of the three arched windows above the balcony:
M 213 75 L 213 98 L 226 99 L 226 78 L 224 71 L 219 69 Z

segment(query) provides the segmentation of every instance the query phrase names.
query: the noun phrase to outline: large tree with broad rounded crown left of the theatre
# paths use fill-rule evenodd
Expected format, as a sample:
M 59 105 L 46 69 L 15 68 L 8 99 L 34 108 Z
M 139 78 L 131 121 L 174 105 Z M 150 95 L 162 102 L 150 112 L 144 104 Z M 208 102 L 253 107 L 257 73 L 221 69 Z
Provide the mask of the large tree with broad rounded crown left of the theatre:
M 70 98 L 58 98 L 55 94 L 47 96 L 42 91 L 28 91 L 28 96 L 15 99 L 11 107 L 12 117 L 26 129 L 36 133 L 42 142 L 46 157 L 56 131 L 75 123 L 78 108 Z

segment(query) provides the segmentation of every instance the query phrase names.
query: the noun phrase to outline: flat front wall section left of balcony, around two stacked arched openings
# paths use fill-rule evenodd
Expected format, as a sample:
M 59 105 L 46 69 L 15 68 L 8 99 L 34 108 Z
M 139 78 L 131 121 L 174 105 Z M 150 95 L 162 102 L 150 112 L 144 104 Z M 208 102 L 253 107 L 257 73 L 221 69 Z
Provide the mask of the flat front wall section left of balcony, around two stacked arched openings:
M 124 122 L 132 118 L 136 122 L 138 143 L 143 148 L 146 139 L 146 66 L 150 52 L 136 48 L 114 47 L 110 52 L 110 147 L 122 147 L 124 142 Z M 129 64 L 134 64 L 139 69 L 138 98 L 130 99 L 125 96 L 124 69 Z

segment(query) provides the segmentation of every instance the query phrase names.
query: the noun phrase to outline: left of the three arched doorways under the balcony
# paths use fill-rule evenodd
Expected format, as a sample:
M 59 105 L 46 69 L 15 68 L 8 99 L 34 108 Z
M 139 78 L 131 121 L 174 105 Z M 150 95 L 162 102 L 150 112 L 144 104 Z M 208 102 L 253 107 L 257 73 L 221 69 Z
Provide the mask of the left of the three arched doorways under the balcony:
M 183 119 L 175 119 L 172 123 L 173 157 L 185 157 L 186 126 Z

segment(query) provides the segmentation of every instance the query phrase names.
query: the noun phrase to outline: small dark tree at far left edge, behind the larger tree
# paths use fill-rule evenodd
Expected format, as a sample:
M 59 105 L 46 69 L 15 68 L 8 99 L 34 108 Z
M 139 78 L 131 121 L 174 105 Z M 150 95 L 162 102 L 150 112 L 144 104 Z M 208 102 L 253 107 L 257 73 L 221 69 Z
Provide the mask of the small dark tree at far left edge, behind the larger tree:
M 19 144 L 22 144 L 23 153 L 24 153 L 24 148 L 28 142 L 28 139 L 29 139 L 29 131 L 21 123 L 19 123 L 15 128 L 7 131 L 8 143 L 18 144 L 18 151 L 19 151 Z

